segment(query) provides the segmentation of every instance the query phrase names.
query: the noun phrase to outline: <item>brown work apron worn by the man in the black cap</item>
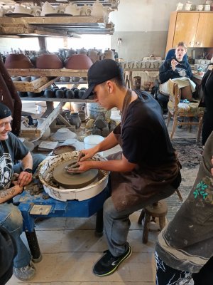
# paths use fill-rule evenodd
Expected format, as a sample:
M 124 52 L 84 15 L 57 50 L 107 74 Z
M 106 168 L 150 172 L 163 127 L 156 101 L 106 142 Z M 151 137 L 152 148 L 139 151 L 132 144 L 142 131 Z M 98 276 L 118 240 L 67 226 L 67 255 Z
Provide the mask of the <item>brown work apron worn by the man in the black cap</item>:
M 121 124 L 114 130 L 114 135 L 122 147 L 122 126 L 126 119 L 131 90 L 127 90 L 124 98 Z M 108 160 L 121 160 L 122 152 L 109 155 Z M 160 167 L 142 168 L 136 166 L 131 172 L 111 172 L 111 198 L 117 211 L 141 204 L 170 185 L 179 172 L 178 162 L 169 162 Z

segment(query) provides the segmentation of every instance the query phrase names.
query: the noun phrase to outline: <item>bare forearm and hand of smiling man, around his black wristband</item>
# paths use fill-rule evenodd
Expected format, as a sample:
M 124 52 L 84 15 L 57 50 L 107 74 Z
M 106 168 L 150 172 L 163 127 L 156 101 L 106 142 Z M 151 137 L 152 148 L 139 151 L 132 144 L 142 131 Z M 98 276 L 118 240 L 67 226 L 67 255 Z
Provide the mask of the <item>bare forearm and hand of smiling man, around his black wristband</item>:
M 18 185 L 20 187 L 28 185 L 32 181 L 33 174 L 24 171 L 26 168 L 33 168 L 33 157 L 31 155 L 31 152 L 28 152 L 28 154 L 23 157 L 21 160 L 21 167 L 23 171 L 18 176 Z

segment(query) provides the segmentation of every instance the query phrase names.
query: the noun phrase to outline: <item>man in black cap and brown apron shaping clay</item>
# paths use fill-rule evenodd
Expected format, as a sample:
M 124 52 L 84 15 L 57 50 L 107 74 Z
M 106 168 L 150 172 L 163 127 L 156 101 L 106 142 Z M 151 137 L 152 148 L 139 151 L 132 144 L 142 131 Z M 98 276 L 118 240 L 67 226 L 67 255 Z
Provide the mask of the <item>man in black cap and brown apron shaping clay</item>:
M 131 256 L 129 215 L 172 195 L 181 176 L 158 102 L 149 93 L 126 88 L 121 66 L 111 59 L 94 63 L 87 76 L 89 88 L 84 99 L 93 95 L 102 107 L 116 107 L 122 113 L 114 132 L 99 145 L 82 150 L 77 165 L 70 168 L 70 172 L 111 171 L 111 197 L 104 202 L 109 249 L 93 268 L 97 276 L 107 276 Z M 110 155 L 108 161 L 88 160 L 118 144 L 122 152 Z

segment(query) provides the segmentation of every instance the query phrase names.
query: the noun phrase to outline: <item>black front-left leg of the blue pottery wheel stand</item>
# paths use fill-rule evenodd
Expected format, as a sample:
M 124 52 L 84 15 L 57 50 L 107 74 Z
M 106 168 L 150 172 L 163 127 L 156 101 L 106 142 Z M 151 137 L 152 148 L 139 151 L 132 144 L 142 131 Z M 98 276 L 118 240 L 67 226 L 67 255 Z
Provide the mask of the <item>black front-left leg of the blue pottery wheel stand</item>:
M 35 233 L 35 229 L 33 229 L 33 232 L 25 232 L 25 233 L 33 257 L 33 262 L 41 261 L 42 255 L 40 253 L 40 247 L 38 244 L 38 239 Z

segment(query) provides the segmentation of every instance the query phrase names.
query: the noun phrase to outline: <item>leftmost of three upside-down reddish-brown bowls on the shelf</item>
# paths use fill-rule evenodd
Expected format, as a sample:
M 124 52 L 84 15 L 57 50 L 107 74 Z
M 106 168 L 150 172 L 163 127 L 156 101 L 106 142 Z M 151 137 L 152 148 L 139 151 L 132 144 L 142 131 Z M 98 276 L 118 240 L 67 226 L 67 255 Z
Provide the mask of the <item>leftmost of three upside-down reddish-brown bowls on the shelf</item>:
M 4 66 L 6 68 L 33 68 L 33 63 L 24 54 L 11 53 L 6 57 Z

